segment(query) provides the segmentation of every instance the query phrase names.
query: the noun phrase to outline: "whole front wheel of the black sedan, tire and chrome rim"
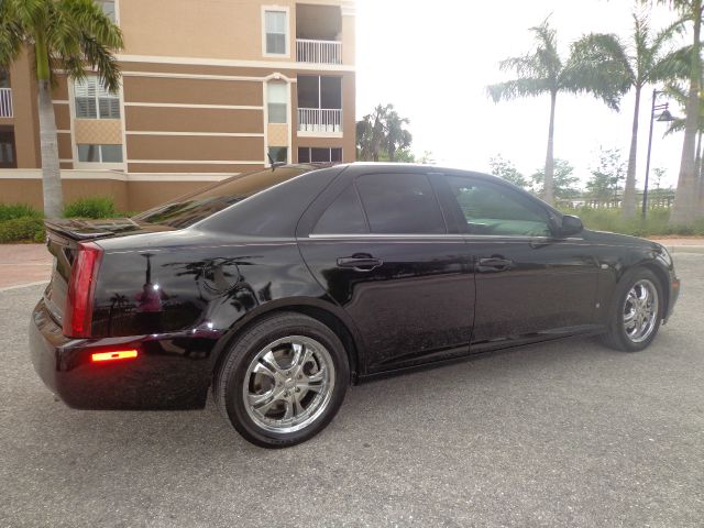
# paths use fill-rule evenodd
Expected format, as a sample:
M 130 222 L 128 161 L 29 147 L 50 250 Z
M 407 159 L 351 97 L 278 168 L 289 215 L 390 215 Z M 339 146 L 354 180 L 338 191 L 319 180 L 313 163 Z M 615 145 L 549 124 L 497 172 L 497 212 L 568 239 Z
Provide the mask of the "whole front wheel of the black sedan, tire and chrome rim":
M 658 277 L 649 270 L 636 270 L 620 282 L 603 342 L 627 352 L 644 350 L 658 333 L 662 309 L 662 286 Z

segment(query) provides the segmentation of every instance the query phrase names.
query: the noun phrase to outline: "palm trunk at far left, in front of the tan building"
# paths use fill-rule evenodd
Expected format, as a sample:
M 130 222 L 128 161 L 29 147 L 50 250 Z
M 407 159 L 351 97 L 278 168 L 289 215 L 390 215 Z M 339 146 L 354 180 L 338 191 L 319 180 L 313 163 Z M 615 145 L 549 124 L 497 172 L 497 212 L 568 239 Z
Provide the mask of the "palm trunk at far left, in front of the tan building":
M 36 82 L 38 91 L 40 145 L 42 153 L 42 191 L 44 195 L 44 215 L 58 218 L 64 210 L 64 194 L 58 164 L 58 140 L 56 117 L 52 102 L 50 85 L 48 51 L 44 35 L 36 35 Z

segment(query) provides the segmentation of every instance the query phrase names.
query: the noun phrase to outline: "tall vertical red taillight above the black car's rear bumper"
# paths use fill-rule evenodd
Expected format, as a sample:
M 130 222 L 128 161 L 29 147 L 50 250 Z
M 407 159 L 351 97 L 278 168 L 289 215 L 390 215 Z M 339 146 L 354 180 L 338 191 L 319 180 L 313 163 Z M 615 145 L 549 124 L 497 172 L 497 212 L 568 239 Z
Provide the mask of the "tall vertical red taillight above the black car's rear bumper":
M 99 245 L 78 244 L 78 254 L 70 271 L 64 310 L 64 336 L 66 337 L 90 337 L 92 302 L 101 256 L 102 249 Z

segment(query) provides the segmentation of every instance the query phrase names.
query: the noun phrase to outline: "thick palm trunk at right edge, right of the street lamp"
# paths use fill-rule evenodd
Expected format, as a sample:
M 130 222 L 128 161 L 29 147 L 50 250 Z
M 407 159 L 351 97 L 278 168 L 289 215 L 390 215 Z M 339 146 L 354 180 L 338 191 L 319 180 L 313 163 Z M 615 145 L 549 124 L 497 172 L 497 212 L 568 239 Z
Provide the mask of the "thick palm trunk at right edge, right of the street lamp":
M 680 176 L 674 206 L 670 216 L 672 226 L 689 226 L 696 213 L 696 174 L 695 174 L 695 142 L 698 131 L 700 116 L 700 78 L 702 64 L 700 58 L 700 34 L 702 30 L 702 0 L 692 0 L 692 18 L 694 20 L 694 35 L 692 45 L 692 69 L 690 72 L 690 92 L 686 101 L 686 119 L 684 121 L 684 141 L 682 143 L 682 158 L 680 161 Z

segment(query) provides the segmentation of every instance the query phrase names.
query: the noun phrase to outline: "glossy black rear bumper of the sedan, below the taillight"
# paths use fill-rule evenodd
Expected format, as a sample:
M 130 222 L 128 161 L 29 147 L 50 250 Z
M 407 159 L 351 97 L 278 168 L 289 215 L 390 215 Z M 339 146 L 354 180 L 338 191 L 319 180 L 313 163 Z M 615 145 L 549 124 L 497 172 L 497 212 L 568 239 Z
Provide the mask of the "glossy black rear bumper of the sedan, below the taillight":
M 185 333 L 97 340 L 66 338 L 41 300 L 29 329 L 30 354 L 44 384 L 78 409 L 196 409 L 205 407 L 215 359 L 213 338 Z M 136 349 L 133 360 L 95 363 L 91 354 Z

